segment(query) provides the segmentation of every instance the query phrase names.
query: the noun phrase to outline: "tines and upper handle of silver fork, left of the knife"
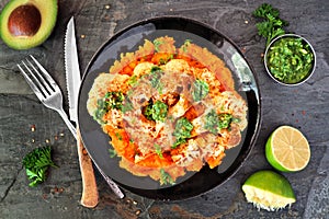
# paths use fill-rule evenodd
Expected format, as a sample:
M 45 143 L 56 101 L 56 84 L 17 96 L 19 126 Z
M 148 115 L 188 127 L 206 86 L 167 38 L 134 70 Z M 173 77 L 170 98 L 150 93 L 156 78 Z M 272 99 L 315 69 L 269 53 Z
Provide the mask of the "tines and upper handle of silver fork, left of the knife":
M 46 69 L 32 55 L 30 55 L 30 57 L 31 60 L 26 58 L 25 61 L 22 61 L 21 65 L 18 65 L 27 84 L 46 107 L 59 113 L 69 130 L 77 139 L 76 127 L 70 123 L 67 114 L 63 108 L 63 94 L 59 87 L 49 76 Z M 33 65 L 32 61 L 41 71 L 35 68 L 35 65 Z

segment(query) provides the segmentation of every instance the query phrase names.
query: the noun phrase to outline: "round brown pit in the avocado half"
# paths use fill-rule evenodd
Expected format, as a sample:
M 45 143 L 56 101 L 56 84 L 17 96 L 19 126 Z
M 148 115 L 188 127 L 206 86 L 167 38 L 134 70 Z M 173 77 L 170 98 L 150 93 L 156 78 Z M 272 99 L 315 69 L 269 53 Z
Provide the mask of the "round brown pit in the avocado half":
M 39 30 L 42 16 L 33 4 L 20 5 L 12 11 L 8 20 L 8 28 L 13 36 L 34 36 Z

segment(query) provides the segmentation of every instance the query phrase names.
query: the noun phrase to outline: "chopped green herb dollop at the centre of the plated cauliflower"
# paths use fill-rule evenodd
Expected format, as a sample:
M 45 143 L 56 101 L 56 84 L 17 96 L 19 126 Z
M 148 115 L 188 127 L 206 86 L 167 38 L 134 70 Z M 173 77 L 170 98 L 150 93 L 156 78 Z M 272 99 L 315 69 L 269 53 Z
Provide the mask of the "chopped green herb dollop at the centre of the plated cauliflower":
M 161 101 L 154 103 L 151 100 L 143 111 L 144 116 L 149 120 L 164 122 L 168 114 L 168 105 Z

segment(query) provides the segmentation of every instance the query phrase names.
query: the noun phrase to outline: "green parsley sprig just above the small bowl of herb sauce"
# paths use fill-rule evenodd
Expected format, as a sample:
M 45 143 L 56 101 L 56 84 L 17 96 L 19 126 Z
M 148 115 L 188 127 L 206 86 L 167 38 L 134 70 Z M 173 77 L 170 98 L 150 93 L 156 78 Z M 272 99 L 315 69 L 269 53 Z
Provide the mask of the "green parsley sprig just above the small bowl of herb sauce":
M 280 19 L 280 12 L 269 3 L 261 4 L 252 12 L 252 15 L 262 19 L 262 22 L 256 24 L 258 34 L 266 38 L 266 46 L 271 41 L 280 35 L 285 34 L 284 26 L 288 25 L 288 22 Z

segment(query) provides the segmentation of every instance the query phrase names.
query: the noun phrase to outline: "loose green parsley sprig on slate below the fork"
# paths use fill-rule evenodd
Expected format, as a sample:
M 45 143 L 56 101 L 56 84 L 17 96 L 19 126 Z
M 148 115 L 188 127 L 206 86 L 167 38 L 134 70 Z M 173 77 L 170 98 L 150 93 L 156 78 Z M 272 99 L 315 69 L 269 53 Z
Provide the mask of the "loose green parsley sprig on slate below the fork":
M 46 171 L 49 166 L 57 168 L 52 161 L 52 148 L 46 146 L 43 148 L 36 148 L 23 158 L 23 166 L 26 170 L 30 186 L 36 186 L 37 184 L 46 180 Z

